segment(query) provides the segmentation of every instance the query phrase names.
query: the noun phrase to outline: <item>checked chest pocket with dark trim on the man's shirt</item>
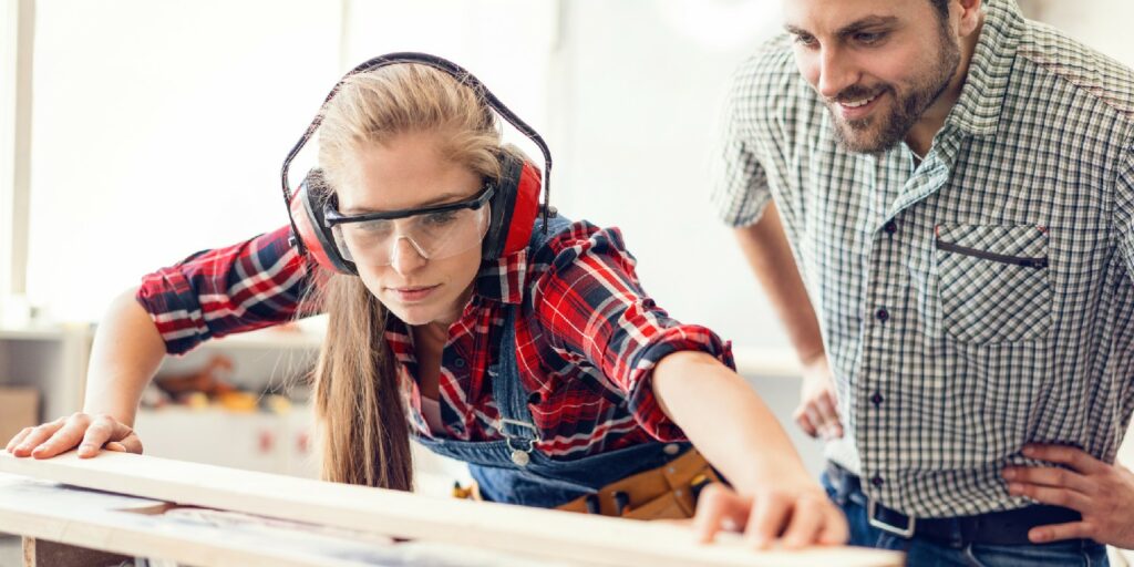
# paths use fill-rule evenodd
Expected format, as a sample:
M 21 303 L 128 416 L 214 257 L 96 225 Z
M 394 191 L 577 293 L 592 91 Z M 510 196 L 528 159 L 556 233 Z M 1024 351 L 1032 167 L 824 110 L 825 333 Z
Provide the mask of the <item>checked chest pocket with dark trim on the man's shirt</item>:
M 1051 324 L 1042 227 L 939 225 L 938 294 L 945 332 L 965 342 L 1021 342 Z

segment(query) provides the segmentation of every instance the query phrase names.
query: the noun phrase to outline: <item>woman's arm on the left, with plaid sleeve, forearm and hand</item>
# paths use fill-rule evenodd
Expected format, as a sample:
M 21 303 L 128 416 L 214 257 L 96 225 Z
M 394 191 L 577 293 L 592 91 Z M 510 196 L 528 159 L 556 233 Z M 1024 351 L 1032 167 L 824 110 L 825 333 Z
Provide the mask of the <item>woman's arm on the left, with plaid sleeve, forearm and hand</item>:
M 302 303 L 312 277 L 288 236 L 285 227 L 194 254 L 120 295 L 95 333 L 83 412 L 22 431 L 7 450 L 36 458 L 76 446 L 81 457 L 103 447 L 142 452 L 132 428 L 142 391 L 167 353 L 318 311 Z

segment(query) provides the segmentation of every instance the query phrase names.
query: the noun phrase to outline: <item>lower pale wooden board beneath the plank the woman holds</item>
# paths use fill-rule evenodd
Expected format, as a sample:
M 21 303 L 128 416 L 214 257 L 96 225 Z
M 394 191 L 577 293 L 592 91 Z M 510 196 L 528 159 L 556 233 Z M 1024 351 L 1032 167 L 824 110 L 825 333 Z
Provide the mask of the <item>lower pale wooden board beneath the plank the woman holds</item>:
M 77 548 L 219 567 L 579 567 L 484 550 L 395 543 L 373 533 L 88 491 L 66 484 L 0 474 L 0 531 L 36 538 L 32 557 L 41 567 L 118 565 Z M 66 545 L 48 543 L 57 541 Z M 65 548 L 76 548 L 68 550 Z M 74 552 L 75 555 L 67 555 Z

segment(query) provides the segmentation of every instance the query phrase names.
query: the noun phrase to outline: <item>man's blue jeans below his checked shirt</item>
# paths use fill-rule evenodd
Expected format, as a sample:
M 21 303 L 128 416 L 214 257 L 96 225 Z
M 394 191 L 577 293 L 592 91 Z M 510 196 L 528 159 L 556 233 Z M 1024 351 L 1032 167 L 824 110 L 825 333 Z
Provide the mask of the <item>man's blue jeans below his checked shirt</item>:
M 850 544 L 865 548 L 892 549 L 906 553 L 913 567 L 950 565 L 963 567 L 1024 567 L 1033 565 L 1107 567 L 1107 547 L 1090 540 L 1072 540 L 1027 545 L 988 545 L 960 542 L 950 545 L 917 538 L 899 538 L 883 532 L 866 519 L 866 497 L 862 492 L 839 494 L 827 473 L 821 477 L 827 496 L 847 516 Z

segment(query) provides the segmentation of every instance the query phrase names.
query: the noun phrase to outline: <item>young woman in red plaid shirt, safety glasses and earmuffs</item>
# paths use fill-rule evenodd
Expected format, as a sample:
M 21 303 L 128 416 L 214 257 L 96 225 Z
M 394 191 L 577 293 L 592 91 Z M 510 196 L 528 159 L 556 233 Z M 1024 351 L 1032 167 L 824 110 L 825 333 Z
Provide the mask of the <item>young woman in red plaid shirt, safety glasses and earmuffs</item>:
M 448 61 L 352 71 L 285 164 L 290 226 L 145 277 L 99 329 L 85 413 L 8 450 L 141 452 L 130 426 L 162 356 L 325 312 L 325 480 L 408 490 L 415 440 L 468 463 L 486 500 L 675 518 L 716 477 L 708 458 L 755 511 L 713 509 L 706 532 L 733 519 L 758 542 L 845 541 L 728 345 L 654 305 L 616 229 L 539 203 L 497 112 L 540 142 Z M 321 169 L 293 196 L 287 163 L 316 128 Z

